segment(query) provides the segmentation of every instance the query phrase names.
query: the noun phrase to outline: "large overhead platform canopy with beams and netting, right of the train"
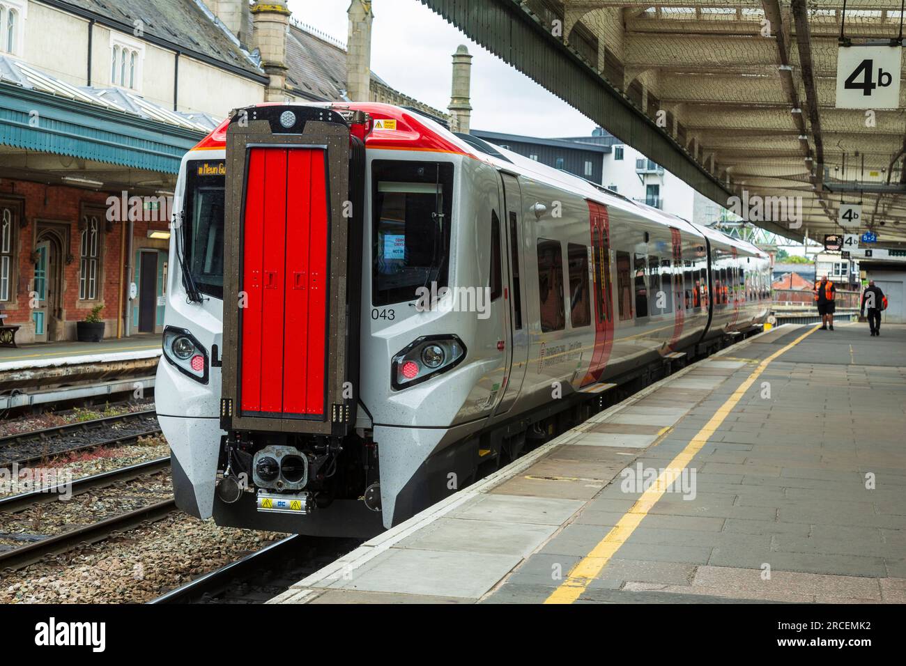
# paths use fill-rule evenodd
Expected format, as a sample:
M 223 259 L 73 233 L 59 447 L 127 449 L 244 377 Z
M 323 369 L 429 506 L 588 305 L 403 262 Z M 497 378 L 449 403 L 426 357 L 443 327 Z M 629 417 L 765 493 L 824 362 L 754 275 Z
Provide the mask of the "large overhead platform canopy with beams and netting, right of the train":
M 906 244 L 906 90 L 893 109 L 836 108 L 841 24 L 844 43 L 889 47 L 900 0 L 421 1 L 718 204 L 801 203 L 801 226 L 750 206 L 759 226 Z M 837 224 L 841 203 L 862 204 L 860 227 Z

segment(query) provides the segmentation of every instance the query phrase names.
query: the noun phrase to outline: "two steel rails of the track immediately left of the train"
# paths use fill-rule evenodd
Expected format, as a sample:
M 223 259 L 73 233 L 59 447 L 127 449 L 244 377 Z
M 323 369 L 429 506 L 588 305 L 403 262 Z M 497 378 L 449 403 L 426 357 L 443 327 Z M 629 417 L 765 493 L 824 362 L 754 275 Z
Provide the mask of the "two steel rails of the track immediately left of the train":
M 78 478 L 72 481 L 72 484 L 69 485 L 69 490 L 72 492 L 72 497 L 75 497 L 96 488 L 108 487 L 134 478 L 157 474 L 167 468 L 169 468 L 169 457 L 157 458 L 137 465 L 130 465 L 126 468 L 95 474 L 91 477 Z M 4 497 L 0 499 L 0 513 L 13 514 L 32 507 L 37 503 L 51 502 L 63 494 L 66 489 L 66 485 L 60 484 L 43 490 L 34 490 L 20 495 Z M 35 541 L 13 550 L 0 552 L 0 572 L 14 571 L 28 565 L 34 565 L 50 555 L 59 555 L 79 545 L 102 541 L 114 532 L 125 531 L 143 523 L 160 520 L 176 510 L 177 507 L 174 501 L 167 499 L 117 516 L 104 518 L 91 525 L 79 526 L 58 535 L 47 536 L 40 541 Z

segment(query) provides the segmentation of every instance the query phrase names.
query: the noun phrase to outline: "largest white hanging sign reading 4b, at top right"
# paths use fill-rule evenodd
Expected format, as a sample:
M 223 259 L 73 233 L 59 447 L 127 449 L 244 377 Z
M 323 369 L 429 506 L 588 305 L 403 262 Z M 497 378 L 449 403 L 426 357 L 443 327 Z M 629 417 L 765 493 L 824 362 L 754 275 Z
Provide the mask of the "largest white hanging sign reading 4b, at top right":
M 837 109 L 898 109 L 901 46 L 841 46 Z

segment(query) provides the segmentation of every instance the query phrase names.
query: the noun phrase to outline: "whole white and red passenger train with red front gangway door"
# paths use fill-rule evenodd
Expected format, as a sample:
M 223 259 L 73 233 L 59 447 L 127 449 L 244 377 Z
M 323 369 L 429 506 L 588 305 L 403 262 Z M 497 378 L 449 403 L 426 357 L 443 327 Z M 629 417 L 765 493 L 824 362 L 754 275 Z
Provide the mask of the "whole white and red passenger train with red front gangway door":
M 232 111 L 173 206 L 158 419 L 223 526 L 376 535 L 770 311 L 756 246 L 390 104 Z

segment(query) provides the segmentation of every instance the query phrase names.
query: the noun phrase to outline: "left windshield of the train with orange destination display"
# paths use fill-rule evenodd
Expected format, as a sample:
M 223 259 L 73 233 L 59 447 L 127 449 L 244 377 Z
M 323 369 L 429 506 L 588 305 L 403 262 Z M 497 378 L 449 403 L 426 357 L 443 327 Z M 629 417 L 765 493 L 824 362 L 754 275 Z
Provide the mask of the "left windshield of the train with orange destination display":
M 224 297 L 224 160 L 191 161 L 186 172 L 180 250 L 183 281 L 194 293 Z

